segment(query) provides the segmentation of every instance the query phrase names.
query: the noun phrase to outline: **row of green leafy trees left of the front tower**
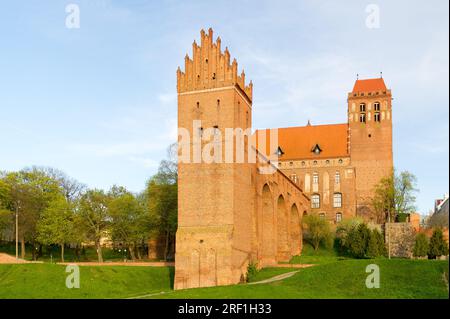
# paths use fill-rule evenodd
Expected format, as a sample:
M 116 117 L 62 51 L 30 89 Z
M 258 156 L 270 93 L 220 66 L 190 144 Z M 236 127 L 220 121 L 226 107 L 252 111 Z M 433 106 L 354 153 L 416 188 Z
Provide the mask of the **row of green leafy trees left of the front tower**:
M 108 193 L 86 190 L 50 167 L 0 171 L 0 232 L 14 231 L 17 213 L 22 258 L 25 247 L 31 248 L 36 259 L 49 245 L 60 245 L 64 256 L 65 244 L 70 243 L 79 259 L 82 244 L 95 243 L 102 261 L 100 241 L 108 238 L 125 245 L 132 259 L 141 259 L 149 236 L 165 237 L 167 258 L 169 247 L 174 251 L 178 217 L 175 156 L 176 144 L 139 195 L 121 186 L 113 186 Z

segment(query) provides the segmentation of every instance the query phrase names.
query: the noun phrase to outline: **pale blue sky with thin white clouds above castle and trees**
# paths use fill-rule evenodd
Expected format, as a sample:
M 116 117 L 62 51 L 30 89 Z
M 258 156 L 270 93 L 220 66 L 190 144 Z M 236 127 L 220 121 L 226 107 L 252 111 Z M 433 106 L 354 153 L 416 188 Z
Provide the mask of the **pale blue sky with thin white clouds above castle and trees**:
M 65 27 L 67 4 L 80 28 Z M 345 4 L 344 4 L 345 3 Z M 366 6 L 380 28 L 366 27 Z M 392 89 L 394 161 L 424 213 L 448 192 L 448 2 L 3 1 L 0 169 L 146 180 L 176 140 L 176 69 L 212 27 L 254 83 L 254 128 L 346 121 L 356 74 Z

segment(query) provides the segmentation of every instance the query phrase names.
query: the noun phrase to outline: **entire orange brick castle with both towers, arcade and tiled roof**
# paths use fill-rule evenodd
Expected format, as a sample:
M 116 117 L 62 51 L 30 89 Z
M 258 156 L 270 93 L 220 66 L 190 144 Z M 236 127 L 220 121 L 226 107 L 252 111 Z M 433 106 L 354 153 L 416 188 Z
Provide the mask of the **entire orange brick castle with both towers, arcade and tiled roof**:
M 192 50 L 184 71 L 177 70 L 178 127 L 200 136 L 179 141 L 189 155 L 207 143 L 209 131 L 214 138 L 224 128 L 251 129 L 253 98 L 252 82 L 246 84 L 212 29 L 201 31 Z M 301 253 L 305 214 L 332 223 L 373 219 L 373 187 L 393 169 L 391 99 L 382 78 L 357 80 L 348 94 L 348 123 L 280 128 L 276 148 L 270 139 L 255 147 L 256 163 L 222 161 L 222 149 L 219 161 L 179 162 L 175 289 L 235 284 L 250 263 L 288 261 Z M 258 134 L 244 136 L 245 146 Z M 267 167 L 273 173 L 263 174 Z

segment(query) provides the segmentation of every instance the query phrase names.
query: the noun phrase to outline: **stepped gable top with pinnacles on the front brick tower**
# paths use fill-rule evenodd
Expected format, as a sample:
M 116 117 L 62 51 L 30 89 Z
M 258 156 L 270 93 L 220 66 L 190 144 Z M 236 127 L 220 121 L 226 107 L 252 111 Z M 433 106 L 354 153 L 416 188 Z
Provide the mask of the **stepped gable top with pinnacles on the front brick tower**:
M 201 30 L 201 43 L 192 44 L 192 59 L 186 54 L 184 72 L 178 67 L 178 93 L 237 85 L 252 100 L 253 84 L 245 84 L 245 73 L 238 74 L 236 59 L 230 63 L 228 48 L 222 53 L 221 40 L 213 42 L 213 30 Z

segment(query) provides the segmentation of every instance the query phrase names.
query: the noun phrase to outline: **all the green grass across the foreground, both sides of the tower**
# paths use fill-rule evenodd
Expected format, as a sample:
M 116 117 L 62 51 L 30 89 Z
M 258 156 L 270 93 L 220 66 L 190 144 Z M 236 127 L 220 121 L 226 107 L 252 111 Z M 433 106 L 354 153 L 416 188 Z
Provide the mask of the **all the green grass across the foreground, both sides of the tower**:
M 173 267 L 81 266 L 80 289 L 68 289 L 64 266 L 0 265 L 0 298 L 448 298 L 448 261 L 350 259 L 305 245 L 302 256 L 290 263 L 315 266 L 265 268 L 252 277 L 255 282 L 299 270 L 290 278 L 267 284 L 180 291 L 172 289 Z M 366 288 L 369 264 L 380 267 L 379 289 Z

